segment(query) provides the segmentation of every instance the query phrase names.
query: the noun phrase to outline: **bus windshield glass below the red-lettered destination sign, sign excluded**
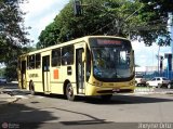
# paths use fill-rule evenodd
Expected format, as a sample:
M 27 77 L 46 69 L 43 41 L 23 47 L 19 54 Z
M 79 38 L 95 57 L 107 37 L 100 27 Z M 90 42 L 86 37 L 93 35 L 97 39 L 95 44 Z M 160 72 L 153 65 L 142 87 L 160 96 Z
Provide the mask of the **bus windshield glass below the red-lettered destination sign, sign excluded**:
M 92 53 L 95 77 L 114 79 L 132 76 L 130 50 L 128 48 L 92 48 Z

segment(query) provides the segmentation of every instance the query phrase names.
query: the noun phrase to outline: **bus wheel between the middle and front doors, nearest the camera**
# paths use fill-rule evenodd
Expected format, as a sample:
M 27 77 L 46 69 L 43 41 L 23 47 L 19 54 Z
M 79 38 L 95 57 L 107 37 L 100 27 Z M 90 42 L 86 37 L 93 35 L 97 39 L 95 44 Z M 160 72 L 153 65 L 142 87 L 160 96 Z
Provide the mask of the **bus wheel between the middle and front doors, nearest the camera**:
M 71 86 L 70 82 L 66 87 L 66 95 L 67 95 L 67 99 L 69 101 L 74 101 L 75 100 L 74 89 L 72 89 L 72 86 Z

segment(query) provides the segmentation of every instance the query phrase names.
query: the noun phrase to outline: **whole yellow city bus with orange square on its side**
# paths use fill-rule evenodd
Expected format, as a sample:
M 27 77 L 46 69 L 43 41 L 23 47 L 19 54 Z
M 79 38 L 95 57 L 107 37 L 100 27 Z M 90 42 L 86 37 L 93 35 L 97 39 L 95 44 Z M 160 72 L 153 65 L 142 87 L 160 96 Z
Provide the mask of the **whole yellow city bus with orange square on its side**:
M 18 87 L 32 94 L 99 95 L 133 92 L 134 51 L 125 38 L 86 36 L 18 57 Z

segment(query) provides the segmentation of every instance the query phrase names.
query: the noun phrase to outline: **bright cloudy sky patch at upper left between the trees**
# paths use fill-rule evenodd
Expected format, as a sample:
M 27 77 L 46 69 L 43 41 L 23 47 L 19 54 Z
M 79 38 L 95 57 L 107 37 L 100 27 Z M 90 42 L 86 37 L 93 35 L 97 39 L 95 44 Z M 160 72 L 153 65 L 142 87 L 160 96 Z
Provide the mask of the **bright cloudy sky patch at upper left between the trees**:
M 38 37 L 59 11 L 67 4 L 69 0 L 28 0 L 28 2 L 21 5 L 21 9 L 27 14 L 25 17 L 25 26 L 31 27 L 29 31 L 29 39 L 38 41 Z

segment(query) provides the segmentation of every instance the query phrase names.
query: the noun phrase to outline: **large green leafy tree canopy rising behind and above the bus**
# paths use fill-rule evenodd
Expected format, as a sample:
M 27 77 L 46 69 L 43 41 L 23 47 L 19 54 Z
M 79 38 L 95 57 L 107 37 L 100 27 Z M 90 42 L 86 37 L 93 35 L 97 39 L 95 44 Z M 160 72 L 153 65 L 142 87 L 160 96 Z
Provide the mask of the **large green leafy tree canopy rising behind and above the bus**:
M 159 46 L 170 44 L 167 15 L 149 1 L 82 0 L 82 16 L 75 16 L 72 0 L 56 15 L 52 23 L 59 30 L 55 42 L 64 42 L 86 35 L 116 35 L 130 37 L 131 40 L 143 40 L 146 46 L 151 46 L 156 41 L 159 41 Z M 49 31 L 56 35 L 55 29 Z M 45 29 L 41 37 L 48 39 L 45 34 L 49 31 Z M 161 38 L 158 40 L 159 37 Z

